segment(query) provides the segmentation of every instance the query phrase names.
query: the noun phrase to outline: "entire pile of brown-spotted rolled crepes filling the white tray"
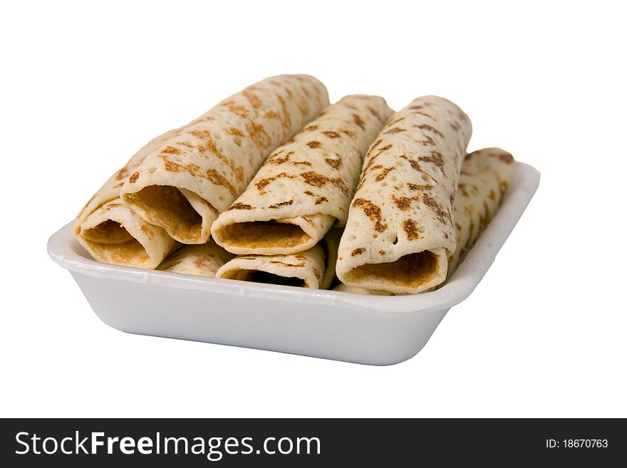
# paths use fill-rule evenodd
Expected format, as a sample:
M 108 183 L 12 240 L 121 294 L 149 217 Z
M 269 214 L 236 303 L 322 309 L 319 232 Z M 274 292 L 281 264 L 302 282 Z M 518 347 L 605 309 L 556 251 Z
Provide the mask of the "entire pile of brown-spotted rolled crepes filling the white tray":
M 365 294 L 442 284 L 497 211 L 512 155 L 467 155 L 465 113 L 425 96 L 328 105 L 316 78 L 268 78 L 142 147 L 90 199 L 97 260 Z

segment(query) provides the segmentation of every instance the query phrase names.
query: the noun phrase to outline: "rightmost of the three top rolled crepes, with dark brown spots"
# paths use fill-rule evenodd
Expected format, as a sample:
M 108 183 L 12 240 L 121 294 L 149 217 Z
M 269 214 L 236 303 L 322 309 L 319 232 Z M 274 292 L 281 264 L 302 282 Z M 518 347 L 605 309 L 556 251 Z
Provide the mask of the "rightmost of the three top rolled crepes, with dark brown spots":
M 338 251 L 342 283 L 419 293 L 446 279 L 452 204 L 472 126 L 437 96 L 413 100 L 371 145 Z

